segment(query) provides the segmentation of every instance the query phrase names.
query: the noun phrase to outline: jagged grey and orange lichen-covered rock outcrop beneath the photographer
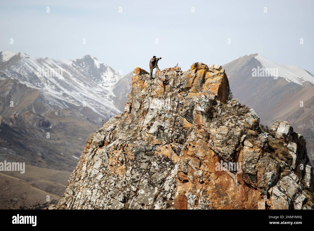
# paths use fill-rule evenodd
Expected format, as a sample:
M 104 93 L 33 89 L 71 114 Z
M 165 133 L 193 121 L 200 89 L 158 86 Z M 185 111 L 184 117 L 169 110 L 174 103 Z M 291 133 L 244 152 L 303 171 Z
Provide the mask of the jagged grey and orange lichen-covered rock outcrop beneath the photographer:
M 125 112 L 90 135 L 57 209 L 311 209 L 302 135 L 259 124 L 219 65 L 136 67 Z M 51 207 L 52 208 L 52 207 Z

